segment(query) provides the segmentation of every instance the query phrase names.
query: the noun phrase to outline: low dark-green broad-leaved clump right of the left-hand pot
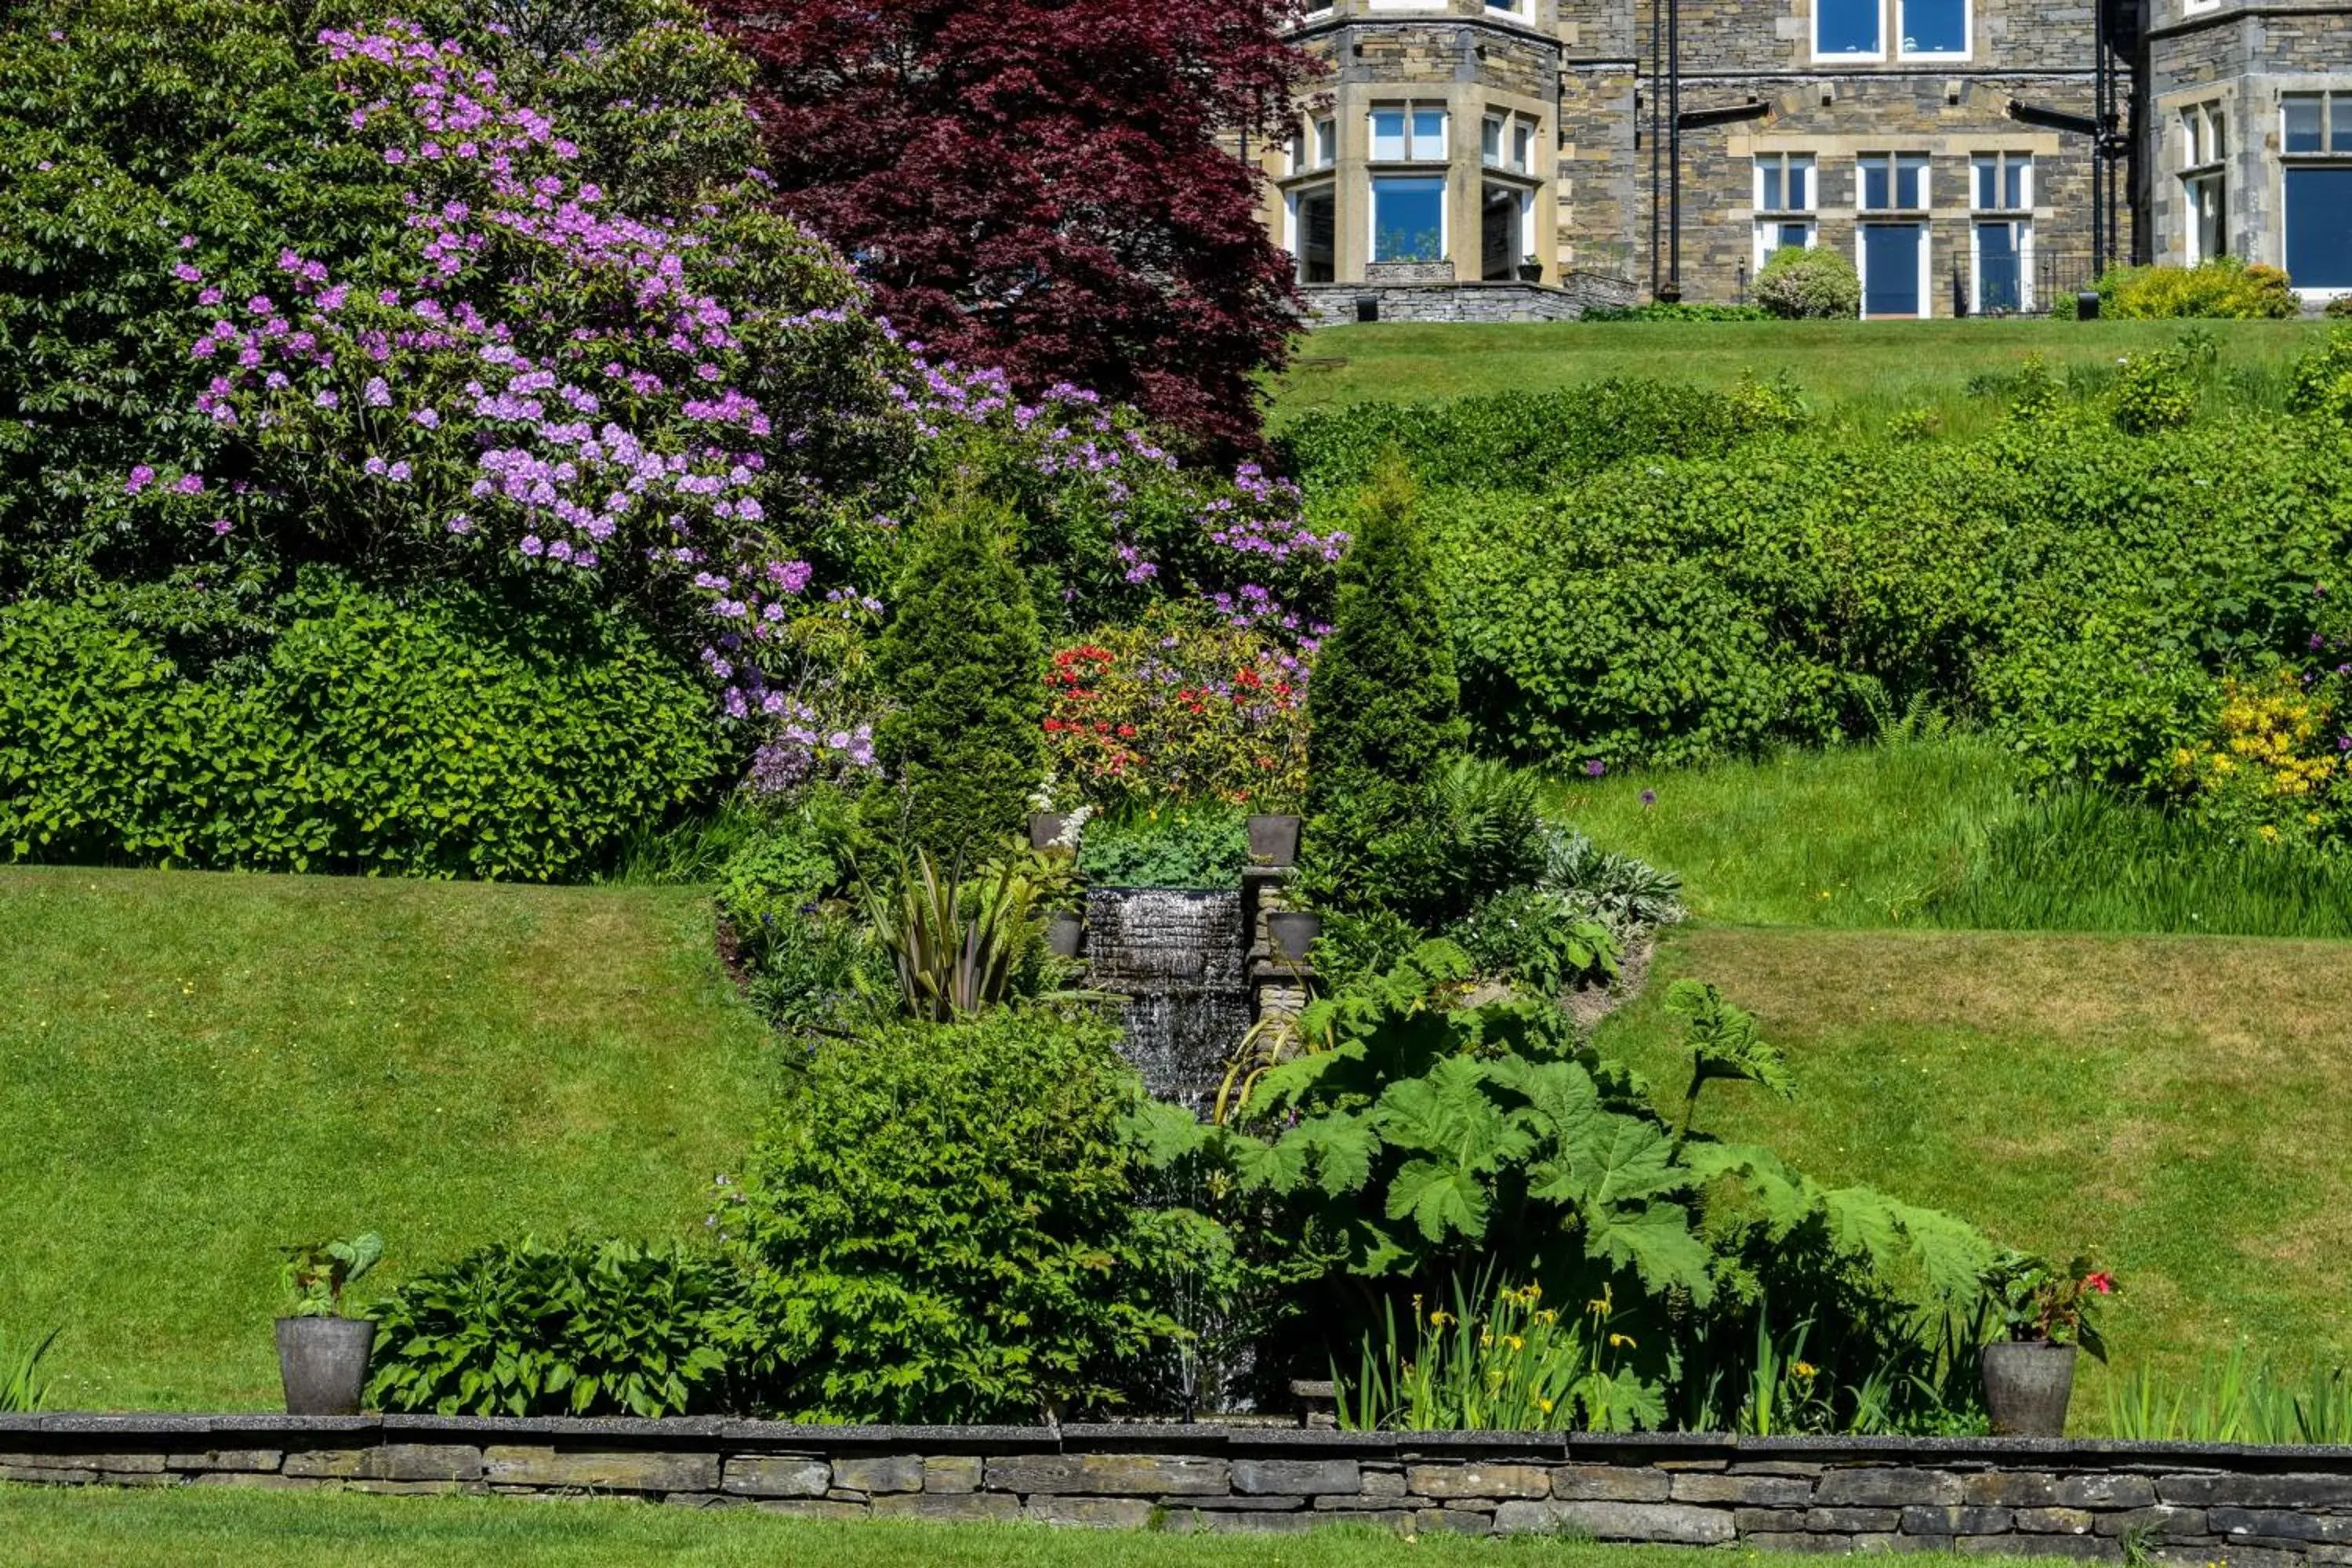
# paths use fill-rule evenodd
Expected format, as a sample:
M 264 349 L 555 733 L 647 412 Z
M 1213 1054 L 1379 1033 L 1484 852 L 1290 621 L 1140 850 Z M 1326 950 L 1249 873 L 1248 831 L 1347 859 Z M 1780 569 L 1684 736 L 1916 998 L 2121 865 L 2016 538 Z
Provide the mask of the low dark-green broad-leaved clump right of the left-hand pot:
M 741 1281 L 708 1255 L 569 1237 L 485 1246 L 374 1309 L 369 1399 L 430 1415 L 727 1410 Z

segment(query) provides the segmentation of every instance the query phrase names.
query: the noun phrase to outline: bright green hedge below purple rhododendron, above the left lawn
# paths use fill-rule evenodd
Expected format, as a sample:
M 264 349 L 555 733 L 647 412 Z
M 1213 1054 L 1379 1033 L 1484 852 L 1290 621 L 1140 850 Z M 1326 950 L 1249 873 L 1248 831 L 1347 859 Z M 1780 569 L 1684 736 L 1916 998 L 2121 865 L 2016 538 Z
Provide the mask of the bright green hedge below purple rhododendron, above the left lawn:
M 0 609 L 0 856 L 562 879 L 724 769 L 609 616 L 339 595 L 181 672 L 101 607 Z

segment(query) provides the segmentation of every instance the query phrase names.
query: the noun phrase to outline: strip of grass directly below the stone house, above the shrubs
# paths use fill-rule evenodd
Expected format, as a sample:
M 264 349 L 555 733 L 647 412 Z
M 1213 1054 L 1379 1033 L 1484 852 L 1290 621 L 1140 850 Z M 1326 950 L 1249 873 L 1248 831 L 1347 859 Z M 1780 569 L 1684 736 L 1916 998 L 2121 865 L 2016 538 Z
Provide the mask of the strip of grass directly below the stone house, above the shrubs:
M 1997 418 L 1966 397 L 1971 376 L 2013 374 L 2042 353 L 2060 376 L 2164 348 L 2183 329 L 2220 339 L 2211 402 L 2272 404 L 2284 369 L 2324 329 L 2312 322 L 1524 322 L 1327 327 L 1296 343 L 1272 381 L 1279 430 L 1310 409 L 1552 390 L 1606 376 L 1731 386 L 1788 371 L 1811 402 L 1863 425 L 1929 409 L 1952 433 Z

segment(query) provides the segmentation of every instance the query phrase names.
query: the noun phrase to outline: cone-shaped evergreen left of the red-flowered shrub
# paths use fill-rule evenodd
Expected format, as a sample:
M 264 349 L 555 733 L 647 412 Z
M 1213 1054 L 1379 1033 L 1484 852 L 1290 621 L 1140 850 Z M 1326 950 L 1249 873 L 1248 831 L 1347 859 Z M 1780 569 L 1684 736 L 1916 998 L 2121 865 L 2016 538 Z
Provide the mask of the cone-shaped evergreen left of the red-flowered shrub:
M 908 853 L 976 865 L 1021 830 L 1044 778 L 1044 646 L 1004 505 L 953 496 L 917 529 L 875 644 L 891 712 L 868 811 Z

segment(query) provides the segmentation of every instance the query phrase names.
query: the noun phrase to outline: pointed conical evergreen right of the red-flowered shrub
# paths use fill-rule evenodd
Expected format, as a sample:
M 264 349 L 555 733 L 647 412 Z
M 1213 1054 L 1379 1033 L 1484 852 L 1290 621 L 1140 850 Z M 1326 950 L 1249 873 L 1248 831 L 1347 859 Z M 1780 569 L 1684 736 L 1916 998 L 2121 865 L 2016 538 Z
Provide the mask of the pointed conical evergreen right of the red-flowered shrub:
M 1435 917 L 1425 905 L 1446 884 L 1437 780 L 1470 731 L 1414 482 L 1397 458 L 1364 491 L 1308 719 L 1308 896 Z

